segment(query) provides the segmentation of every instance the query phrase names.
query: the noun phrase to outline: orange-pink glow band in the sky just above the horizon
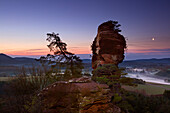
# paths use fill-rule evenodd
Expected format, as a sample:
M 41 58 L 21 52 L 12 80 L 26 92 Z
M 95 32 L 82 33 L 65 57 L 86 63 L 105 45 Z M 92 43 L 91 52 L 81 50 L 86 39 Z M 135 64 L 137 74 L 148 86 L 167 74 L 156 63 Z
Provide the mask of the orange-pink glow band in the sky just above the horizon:
M 162 52 L 161 49 L 166 49 L 166 48 L 142 48 L 142 47 L 134 48 L 130 46 L 127 48 L 127 50 L 125 50 L 125 53 L 144 53 L 144 54 L 151 53 L 151 52 L 159 53 Z M 88 46 L 68 47 L 68 51 L 74 54 L 92 54 L 91 48 Z M 9 54 L 9 55 L 21 55 L 21 56 L 53 54 L 53 52 L 50 52 L 48 48 L 6 49 L 6 50 L 0 50 L 0 53 Z

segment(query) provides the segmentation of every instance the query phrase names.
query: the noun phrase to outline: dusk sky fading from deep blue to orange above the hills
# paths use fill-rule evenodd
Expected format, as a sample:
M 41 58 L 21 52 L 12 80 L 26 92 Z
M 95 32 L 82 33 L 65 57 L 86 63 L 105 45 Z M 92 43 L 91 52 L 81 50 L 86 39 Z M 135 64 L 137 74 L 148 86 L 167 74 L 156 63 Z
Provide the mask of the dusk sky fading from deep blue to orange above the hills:
M 169 0 L 0 0 L 0 53 L 46 55 L 46 34 L 55 32 L 69 51 L 89 58 L 97 27 L 115 20 L 126 37 L 125 59 L 170 58 L 169 4 Z

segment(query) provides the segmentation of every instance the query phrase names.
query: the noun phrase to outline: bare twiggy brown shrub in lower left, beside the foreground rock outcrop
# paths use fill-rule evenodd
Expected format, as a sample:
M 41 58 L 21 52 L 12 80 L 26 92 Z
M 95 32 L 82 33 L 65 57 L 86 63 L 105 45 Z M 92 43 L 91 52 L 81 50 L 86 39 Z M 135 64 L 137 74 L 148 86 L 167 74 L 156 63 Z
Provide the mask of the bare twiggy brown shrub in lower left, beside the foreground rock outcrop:
M 47 85 L 57 81 L 42 67 L 22 67 L 19 75 L 5 86 L 3 113 L 41 113 L 41 102 L 37 94 Z M 27 72 L 30 73 L 28 76 Z

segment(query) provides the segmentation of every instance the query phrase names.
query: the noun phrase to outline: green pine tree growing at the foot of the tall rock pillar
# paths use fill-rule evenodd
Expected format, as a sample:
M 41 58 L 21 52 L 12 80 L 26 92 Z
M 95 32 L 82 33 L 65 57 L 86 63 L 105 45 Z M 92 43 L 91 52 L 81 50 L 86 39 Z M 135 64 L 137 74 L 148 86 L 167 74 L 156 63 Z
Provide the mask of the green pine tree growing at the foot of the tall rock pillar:
M 121 84 L 136 86 L 133 78 L 125 77 L 124 68 L 114 64 L 103 64 L 93 70 L 92 79 L 98 83 L 107 84 L 110 88 L 111 102 L 119 103 L 122 100 Z

